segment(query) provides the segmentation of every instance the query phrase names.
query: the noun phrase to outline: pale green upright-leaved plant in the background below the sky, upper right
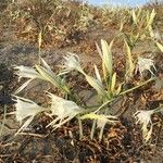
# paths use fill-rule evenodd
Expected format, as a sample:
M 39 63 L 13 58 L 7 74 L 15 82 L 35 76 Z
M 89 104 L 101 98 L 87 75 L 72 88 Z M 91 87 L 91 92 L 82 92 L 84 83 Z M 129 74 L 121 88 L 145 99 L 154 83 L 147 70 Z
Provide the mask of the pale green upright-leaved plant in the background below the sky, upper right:
M 153 21 L 156 13 L 154 9 L 150 13 L 150 11 L 148 10 L 138 8 L 138 9 L 133 9 L 129 12 L 129 14 L 131 16 L 131 24 L 130 24 L 131 27 L 129 28 L 129 32 L 125 32 L 123 29 L 121 29 L 121 32 L 123 33 L 124 38 L 127 41 L 127 45 L 133 51 L 133 49 L 139 42 L 142 42 L 142 40 L 151 39 L 150 29 L 152 28 Z

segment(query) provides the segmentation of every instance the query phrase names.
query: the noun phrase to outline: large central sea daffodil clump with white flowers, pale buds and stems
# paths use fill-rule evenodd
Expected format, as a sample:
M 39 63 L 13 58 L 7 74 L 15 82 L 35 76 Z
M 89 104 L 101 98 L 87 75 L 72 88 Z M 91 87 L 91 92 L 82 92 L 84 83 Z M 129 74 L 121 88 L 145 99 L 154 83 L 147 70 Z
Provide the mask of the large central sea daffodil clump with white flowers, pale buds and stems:
M 26 128 L 38 113 L 46 112 L 46 115 L 52 118 L 51 123 L 49 123 L 47 127 L 51 127 L 53 130 L 70 122 L 72 118 L 77 117 L 80 137 L 83 136 L 82 121 L 85 121 L 86 118 L 93 120 L 90 138 L 93 138 L 95 130 L 98 127 L 100 128 L 99 140 L 101 141 L 105 124 L 114 124 L 118 121 L 117 115 L 111 114 L 112 102 L 114 102 L 120 96 L 124 96 L 127 92 L 130 92 L 153 80 L 153 78 L 151 78 L 139 86 L 123 89 L 122 86 L 124 82 L 117 83 L 117 74 L 113 67 L 113 57 L 111 51 L 112 45 L 113 41 L 108 45 L 105 40 L 101 40 L 101 49 L 97 45 L 98 52 L 101 58 L 102 71 L 99 71 L 98 66 L 93 65 L 95 76 L 90 76 L 86 73 L 86 71 L 84 71 L 79 58 L 74 53 L 68 53 L 64 57 L 64 63 L 62 65 L 63 71 L 59 74 L 55 74 L 41 58 L 41 64 L 36 64 L 34 67 L 16 66 L 15 73 L 18 76 L 18 79 L 28 79 L 18 88 L 17 92 L 23 90 L 32 80 L 38 78 L 42 82 L 51 83 L 52 86 L 58 88 L 58 90 L 61 90 L 62 97 L 64 97 L 61 98 L 57 95 L 48 92 L 47 95 L 51 102 L 50 106 L 47 109 L 39 106 L 37 103 L 28 99 L 15 97 L 16 111 L 14 114 L 16 115 L 16 120 L 18 122 L 26 120 L 17 133 Z M 130 73 L 133 73 L 134 66 L 130 50 L 128 50 L 128 60 Z M 71 71 L 77 71 L 83 74 L 85 80 L 97 91 L 97 97 L 99 98 L 98 105 L 89 108 L 85 104 L 85 109 L 80 106 L 83 104 L 80 103 L 77 93 L 73 93 L 67 83 L 65 83 L 66 77 L 64 77 L 64 75 Z M 102 75 L 100 73 L 102 73 Z M 140 114 L 136 114 L 136 116 L 140 117 L 139 115 Z

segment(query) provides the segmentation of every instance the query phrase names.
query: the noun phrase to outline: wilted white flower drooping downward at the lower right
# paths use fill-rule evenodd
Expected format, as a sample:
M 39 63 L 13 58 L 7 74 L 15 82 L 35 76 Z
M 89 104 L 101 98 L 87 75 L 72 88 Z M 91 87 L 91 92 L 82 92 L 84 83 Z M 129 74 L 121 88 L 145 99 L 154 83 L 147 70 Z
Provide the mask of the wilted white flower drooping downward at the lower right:
M 142 137 L 145 141 L 147 142 L 152 134 L 153 124 L 151 121 L 151 115 L 155 112 L 155 110 L 151 111 L 137 111 L 134 116 L 137 120 L 137 124 L 142 125 Z

